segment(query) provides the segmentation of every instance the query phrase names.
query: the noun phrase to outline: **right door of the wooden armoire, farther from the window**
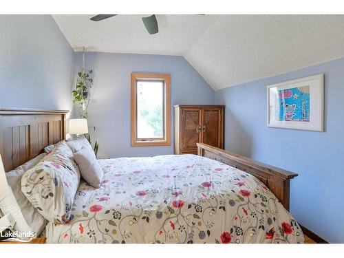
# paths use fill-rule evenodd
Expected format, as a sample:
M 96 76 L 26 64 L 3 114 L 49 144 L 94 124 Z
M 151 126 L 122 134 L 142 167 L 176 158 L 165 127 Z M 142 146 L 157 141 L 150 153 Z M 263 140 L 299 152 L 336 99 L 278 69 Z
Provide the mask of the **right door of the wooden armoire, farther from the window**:
M 223 149 L 223 109 L 202 109 L 202 142 Z

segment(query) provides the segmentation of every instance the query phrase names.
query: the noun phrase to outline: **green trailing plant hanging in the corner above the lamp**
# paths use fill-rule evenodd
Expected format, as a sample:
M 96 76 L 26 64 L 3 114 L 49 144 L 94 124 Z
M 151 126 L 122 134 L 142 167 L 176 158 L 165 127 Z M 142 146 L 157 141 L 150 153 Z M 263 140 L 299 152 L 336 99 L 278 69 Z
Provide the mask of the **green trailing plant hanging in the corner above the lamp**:
M 76 88 L 72 91 L 73 103 L 78 105 L 78 111 L 80 118 L 88 118 L 88 106 L 91 100 L 91 89 L 93 78 L 92 70 L 85 71 L 85 50 L 83 51 L 83 68 L 78 72 L 78 78 L 76 78 Z M 96 127 L 89 127 L 96 131 Z M 92 145 L 91 136 L 89 133 L 85 134 L 85 137 L 89 141 L 89 144 Z M 99 144 L 96 141 L 94 143 L 94 153 L 97 155 Z

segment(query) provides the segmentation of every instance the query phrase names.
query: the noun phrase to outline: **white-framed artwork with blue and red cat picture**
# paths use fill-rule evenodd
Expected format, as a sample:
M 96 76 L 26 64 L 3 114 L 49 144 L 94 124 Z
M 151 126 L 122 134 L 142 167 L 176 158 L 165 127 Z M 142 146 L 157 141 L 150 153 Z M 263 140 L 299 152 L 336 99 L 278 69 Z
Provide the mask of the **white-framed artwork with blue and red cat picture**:
M 268 85 L 268 127 L 323 131 L 323 74 Z

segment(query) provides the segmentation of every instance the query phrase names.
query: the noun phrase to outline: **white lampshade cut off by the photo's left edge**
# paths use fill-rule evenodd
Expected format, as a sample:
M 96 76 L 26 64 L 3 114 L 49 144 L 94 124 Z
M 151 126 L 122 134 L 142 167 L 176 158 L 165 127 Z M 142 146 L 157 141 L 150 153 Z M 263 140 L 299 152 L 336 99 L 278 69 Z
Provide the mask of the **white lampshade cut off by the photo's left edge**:
M 0 155 L 0 211 L 3 216 L 0 218 L 0 233 L 7 228 L 13 228 L 23 235 L 30 237 L 23 238 L 32 238 L 32 230 L 28 223 L 26 223 L 21 209 L 17 204 L 17 200 L 12 193 L 12 189 L 8 186 L 6 180 L 5 169 L 3 168 L 3 162 Z

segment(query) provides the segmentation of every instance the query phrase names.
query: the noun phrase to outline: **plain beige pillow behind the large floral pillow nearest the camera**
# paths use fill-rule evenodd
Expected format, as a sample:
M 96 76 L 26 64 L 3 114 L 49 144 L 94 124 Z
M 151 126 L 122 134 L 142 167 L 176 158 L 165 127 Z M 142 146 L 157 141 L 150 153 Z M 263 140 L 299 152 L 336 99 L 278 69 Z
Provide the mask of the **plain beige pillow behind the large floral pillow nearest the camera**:
M 32 169 L 32 167 L 39 163 L 45 155 L 47 154 L 42 153 L 25 164 L 18 166 L 17 169 L 6 173 L 8 185 L 12 189 L 12 193 L 21 208 L 21 213 L 36 236 L 41 234 L 43 228 L 47 224 L 47 220 L 36 210 L 36 208 L 34 208 L 34 206 L 32 206 L 29 200 L 21 192 L 21 177 L 25 171 Z

